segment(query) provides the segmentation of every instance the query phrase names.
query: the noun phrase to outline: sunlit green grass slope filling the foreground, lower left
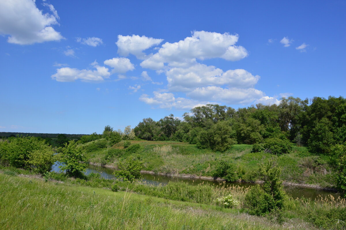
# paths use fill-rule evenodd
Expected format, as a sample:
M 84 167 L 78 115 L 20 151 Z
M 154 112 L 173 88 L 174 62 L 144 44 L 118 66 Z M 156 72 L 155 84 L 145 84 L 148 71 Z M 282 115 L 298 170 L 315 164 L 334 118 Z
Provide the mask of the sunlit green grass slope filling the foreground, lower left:
M 0 176 L 0 229 L 315 229 L 218 206 Z

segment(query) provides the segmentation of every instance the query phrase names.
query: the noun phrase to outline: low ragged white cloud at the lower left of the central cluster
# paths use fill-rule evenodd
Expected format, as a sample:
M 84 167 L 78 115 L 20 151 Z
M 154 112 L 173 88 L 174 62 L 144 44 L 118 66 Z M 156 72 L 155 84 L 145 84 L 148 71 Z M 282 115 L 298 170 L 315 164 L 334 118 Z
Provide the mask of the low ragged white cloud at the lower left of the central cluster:
M 147 94 L 142 94 L 139 98 L 140 101 L 146 104 L 157 106 L 161 109 L 179 109 L 179 110 L 190 110 L 197 106 L 202 106 L 206 104 L 216 104 L 215 102 L 200 102 L 196 100 L 191 100 L 187 98 L 175 98 L 173 93 L 160 93 L 154 91 L 154 97 L 149 97 Z

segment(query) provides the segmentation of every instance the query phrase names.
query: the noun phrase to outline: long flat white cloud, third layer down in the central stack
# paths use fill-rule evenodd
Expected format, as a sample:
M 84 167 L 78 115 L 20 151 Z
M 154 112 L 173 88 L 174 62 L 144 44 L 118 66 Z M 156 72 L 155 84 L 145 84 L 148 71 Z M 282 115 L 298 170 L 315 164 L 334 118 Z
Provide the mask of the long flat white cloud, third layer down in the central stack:
M 186 93 L 192 99 L 199 101 L 218 101 L 227 104 L 247 104 L 251 103 L 256 99 L 261 98 L 264 93 L 260 90 L 253 88 L 249 89 L 238 89 L 230 88 L 224 89 L 217 86 L 208 86 L 197 88 L 192 92 Z

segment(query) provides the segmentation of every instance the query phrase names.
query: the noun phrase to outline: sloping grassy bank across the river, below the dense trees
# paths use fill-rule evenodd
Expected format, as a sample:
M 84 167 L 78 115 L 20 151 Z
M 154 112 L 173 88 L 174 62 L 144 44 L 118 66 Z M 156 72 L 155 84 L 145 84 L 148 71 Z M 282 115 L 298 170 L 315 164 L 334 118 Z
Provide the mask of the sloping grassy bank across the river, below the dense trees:
M 272 155 L 269 153 L 251 153 L 252 145 L 234 145 L 225 153 L 198 149 L 195 145 L 169 141 L 131 141 L 139 144 L 136 152 L 124 149 L 124 141 L 112 148 L 103 148 L 88 153 L 91 163 L 116 167 L 119 160 L 137 158 L 144 162 L 144 170 L 164 174 L 191 174 L 213 176 L 218 160 L 231 161 L 239 179 L 247 182 L 257 180 L 254 172 L 258 163 L 274 158 L 282 168 L 282 180 L 301 184 L 316 184 L 321 187 L 334 187 L 335 178 L 327 164 L 328 156 L 312 155 L 306 147 L 294 146 L 289 154 Z M 109 157 L 109 152 L 118 149 L 118 153 Z

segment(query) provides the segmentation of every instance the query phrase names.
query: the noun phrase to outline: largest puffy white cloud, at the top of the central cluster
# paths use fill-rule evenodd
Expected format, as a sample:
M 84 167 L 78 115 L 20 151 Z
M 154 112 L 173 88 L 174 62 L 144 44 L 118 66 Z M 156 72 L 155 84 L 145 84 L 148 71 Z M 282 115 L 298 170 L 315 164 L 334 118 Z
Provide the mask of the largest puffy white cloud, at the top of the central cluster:
M 243 46 L 235 45 L 238 38 L 237 34 L 194 31 L 191 37 L 179 42 L 166 42 L 157 53 L 145 59 L 140 65 L 160 70 L 164 67 L 164 63 L 168 63 L 171 67 L 188 67 L 195 64 L 196 59 L 219 57 L 228 61 L 238 61 L 248 55 Z

